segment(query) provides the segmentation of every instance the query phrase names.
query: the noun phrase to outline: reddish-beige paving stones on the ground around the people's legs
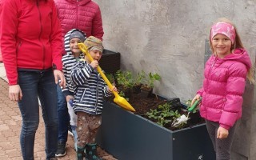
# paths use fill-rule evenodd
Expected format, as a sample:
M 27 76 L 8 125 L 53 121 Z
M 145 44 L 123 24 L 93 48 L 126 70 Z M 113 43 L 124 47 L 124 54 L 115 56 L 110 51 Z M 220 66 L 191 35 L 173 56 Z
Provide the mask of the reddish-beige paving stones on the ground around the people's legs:
M 8 98 L 8 84 L 0 78 L 0 160 L 19 160 L 22 159 L 21 149 L 19 146 L 19 136 L 21 130 L 22 118 L 16 102 Z M 45 134 L 44 123 L 40 116 L 40 124 L 34 143 L 35 160 L 46 159 L 45 154 Z M 116 160 L 110 154 L 107 154 L 101 148 L 98 148 L 100 157 L 106 160 Z M 66 156 L 58 159 L 74 160 L 74 141 L 69 135 Z

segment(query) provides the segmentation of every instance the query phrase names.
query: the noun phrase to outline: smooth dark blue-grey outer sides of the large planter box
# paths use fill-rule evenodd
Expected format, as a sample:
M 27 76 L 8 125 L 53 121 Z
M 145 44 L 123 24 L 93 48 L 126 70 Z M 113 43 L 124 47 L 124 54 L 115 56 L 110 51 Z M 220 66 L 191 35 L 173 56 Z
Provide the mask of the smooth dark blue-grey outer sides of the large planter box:
M 104 102 L 97 142 L 119 160 L 215 159 L 206 124 L 171 131 L 110 102 Z

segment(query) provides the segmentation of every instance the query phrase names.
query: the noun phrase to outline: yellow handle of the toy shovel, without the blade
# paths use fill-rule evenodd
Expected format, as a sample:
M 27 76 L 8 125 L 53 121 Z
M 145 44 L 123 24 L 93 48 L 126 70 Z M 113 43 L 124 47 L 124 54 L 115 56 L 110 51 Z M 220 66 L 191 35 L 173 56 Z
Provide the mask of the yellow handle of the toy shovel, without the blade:
M 83 53 L 86 54 L 86 56 L 89 58 L 90 62 L 94 61 L 94 59 L 90 56 L 87 47 L 85 44 L 83 44 L 82 42 L 78 43 L 78 47 L 80 50 L 82 50 Z M 104 81 L 106 82 L 107 86 L 110 87 L 110 89 L 113 89 L 114 86 L 110 83 L 110 81 L 108 80 L 108 78 L 106 78 L 106 75 L 102 72 L 102 68 L 100 66 L 97 66 L 97 70 L 98 73 L 101 74 L 102 78 L 104 79 Z M 112 93 L 114 94 L 114 96 L 119 96 L 117 92 L 112 91 Z

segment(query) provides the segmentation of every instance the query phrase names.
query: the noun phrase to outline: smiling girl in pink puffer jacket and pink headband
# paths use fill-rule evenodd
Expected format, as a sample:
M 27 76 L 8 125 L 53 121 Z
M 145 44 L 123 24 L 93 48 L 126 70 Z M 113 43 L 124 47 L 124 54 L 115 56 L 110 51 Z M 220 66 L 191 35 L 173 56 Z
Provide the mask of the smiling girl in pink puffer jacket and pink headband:
M 246 76 L 254 82 L 252 65 L 235 26 L 221 18 L 210 30 L 213 55 L 206 62 L 200 114 L 214 145 L 217 160 L 230 159 L 236 121 L 242 116 L 242 94 Z

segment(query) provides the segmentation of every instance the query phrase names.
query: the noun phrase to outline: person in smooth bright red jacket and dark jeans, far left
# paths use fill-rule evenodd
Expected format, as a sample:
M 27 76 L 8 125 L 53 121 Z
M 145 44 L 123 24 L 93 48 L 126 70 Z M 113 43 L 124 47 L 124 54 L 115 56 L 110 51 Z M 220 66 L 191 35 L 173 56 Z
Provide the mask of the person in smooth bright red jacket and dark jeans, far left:
M 39 123 L 38 97 L 46 126 L 46 159 L 55 159 L 58 142 L 56 83 L 62 74 L 62 35 L 53 0 L 4 0 L 0 23 L 2 58 L 9 97 L 22 114 L 23 159 L 34 159 Z

